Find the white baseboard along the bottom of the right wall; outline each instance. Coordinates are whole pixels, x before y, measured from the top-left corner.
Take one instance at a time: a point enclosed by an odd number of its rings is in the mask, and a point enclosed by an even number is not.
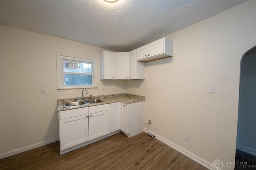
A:
[[[212,168],[212,164],[211,164],[210,162],[207,162],[206,160],[200,158],[199,156],[193,154],[192,152],[189,152],[188,150],[186,150],[186,149],[184,149],[184,148],[181,148],[180,146],[178,146],[178,145],[176,145],[176,144],[174,144],[174,143],[172,143],[172,142],[166,140],[165,138],[163,138],[163,137],[159,136],[158,134],[156,134],[156,133],[154,133],[154,132],[148,130],[147,128],[145,128],[144,131],[145,131],[146,133],[150,132],[151,134],[153,134],[154,136],[156,136],[156,138],[157,138],[158,140],[160,140],[161,142],[164,142],[165,144],[167,144],[168,146],[174,148],[174,149],[177,150],[178,152],[180,152],[180,153],[182,153],[182,154],[188,156],[188,158],[191,158],[192,160],[198,162],[199,164],[205,166],[206,168],[208,168],[208,169],[210,169],[210,170],[214,170],[214,169]],[[219,170],[220,170],[220,168],[219,168]]]

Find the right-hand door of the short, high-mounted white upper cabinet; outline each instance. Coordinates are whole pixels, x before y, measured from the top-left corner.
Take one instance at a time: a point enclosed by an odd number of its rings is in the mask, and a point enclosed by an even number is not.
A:
[[[148,57],[164,53],[164,38],[148,44]]]

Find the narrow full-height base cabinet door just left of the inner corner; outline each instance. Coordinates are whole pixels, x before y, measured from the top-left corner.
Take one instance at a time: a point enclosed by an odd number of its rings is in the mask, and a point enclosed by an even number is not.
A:
[[[110,132],[120,130],[120,102],[110,104]]]

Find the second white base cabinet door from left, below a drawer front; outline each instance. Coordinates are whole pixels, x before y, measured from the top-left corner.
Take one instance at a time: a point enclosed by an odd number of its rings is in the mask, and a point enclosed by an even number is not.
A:
[[[110,110],[89,114],[89,139],[110,133]]]

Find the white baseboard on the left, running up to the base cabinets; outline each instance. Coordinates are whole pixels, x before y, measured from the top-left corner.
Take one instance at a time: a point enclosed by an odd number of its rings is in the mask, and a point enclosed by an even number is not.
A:
[[[40,146],[44,146],[46,144],[50,144],[50,143],[56,142],[58,140],[59,140],[59,138],[54,138],[54,139],[46,140],[44,142],[39,142],[39,143],[36,143],[36,144],[32,144],[32,145],[29,145],[29,146],[18,148],[18,149],[12,150],[10,152],[5,152],[5,153],[0,154],[0,159],[6,158],[8,156],[15,155],[15,154],[19,154],[21,152],[25,152],[25,151],[28,151],[28,150],[31,150],[31,149],[34,149],[34,148],[38,148]]]

